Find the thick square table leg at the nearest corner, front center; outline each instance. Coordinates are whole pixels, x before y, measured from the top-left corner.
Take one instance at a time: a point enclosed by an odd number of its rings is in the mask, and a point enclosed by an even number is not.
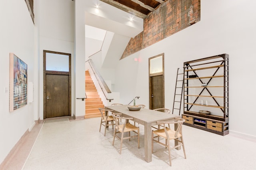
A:
[[[152,161],[151,152],[151,124],[144,125],[144,148],[145,148],[145,160],[146,162]]]

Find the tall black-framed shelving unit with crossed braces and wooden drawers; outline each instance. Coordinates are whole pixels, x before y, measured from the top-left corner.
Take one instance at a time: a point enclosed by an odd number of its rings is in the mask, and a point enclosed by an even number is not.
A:
[[[228,54],[184,62],[184,125],[224,136],[228,116]]]

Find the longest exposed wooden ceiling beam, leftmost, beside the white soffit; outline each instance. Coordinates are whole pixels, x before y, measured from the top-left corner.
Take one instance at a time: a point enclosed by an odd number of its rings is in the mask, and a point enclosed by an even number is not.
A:
[[[144,18],[147,17],[147,15],[142,14],[141,12],[138,12],[138,11],[136,11],[136,10],[134,10],[132,8],[129,8],[129,7],[125,6],[125,5],[123,5],[123,4],[120,4],[120,3],[118,3],[118,2],[116,2],[114,0],[100,0],[100,1],[105,2],[107,4],[110,4],[110,5],[116,7],[118,9],[120,9],[120,10],[128,12],[129,14],[135,15],[135,16],[137,16],[139,18],[143,18],[144,19]]]

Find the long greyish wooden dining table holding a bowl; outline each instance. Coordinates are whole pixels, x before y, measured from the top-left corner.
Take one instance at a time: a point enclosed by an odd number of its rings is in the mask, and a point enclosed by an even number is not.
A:
[[[140,111],[129,111],[128,106],[129,105],[116,105],[116,106],[105,106],[105,107],[113,110],[114,113],[122,113],[123,117],[133,118],[132,121],[137,122],[140,125],[144,125],[145,160],[146,162],[151,162],[152,161],[151,126],[157,125],[156,122],[158,121],[172,121],[174,118],[180,117],[180,116],[169,114],[169,113],[163,113],[160,111],[145,109],[145,108],[141,108]]]

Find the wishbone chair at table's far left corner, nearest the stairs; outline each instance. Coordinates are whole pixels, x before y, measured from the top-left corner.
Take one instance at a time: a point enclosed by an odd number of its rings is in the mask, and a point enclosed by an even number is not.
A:
[[[109,125],[112,125],[112,128],[114,129],[114,118],[112,116],[109,116],[109,112],[112,112],[113,110],[110,109],[106,109],[106,108],[99,108],[100,113],[101,113],[101,120],[100,120],[100,129],[101,129],[101,125],[103,125],[105,127],[105,131],[104,131],[104,136],[106,136],[106,128]],[[105,113],[107,113],[107,115],[105,116]],[[110,123],[110,124],[109,124]]]

